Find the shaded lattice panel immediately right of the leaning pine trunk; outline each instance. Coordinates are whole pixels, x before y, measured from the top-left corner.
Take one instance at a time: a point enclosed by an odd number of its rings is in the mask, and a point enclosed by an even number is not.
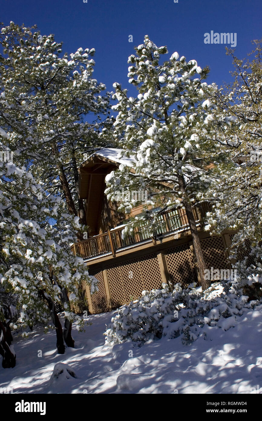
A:
[[[207,268],[230,269],[222,237],[204,238],[204,240],[201,240],[201,246]]]

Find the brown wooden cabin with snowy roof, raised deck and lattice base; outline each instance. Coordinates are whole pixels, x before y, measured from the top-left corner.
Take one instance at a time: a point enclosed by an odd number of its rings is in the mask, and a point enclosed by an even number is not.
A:
[[[74,243],[73,253],[86,262],[89,273],[98,281],[99,291],[90,295],[81,285],[90,313],[111,311],[141,296],[143,290],[161,288],[161,284],[180,282],[184,287],[199,282],[191,232],[183,208],[158,212],[161,229],[153,237],[146,225],[124,237],[124,222],[143,212],[143,205],[130,215],[118,212],[116,202],[107,200],[106,176],[121,163],[132,168],[132,158],[119,158],[120,149],[103,148],[79,167],[79,198],[84,199],[87,238]],[[201,238],[207,267],[230,269],[228,248],[233,232],[210,236],[204,230],[204,218],[211,204],[195,206],[194,217]],[[153,210],[152,210],[153,211]]]

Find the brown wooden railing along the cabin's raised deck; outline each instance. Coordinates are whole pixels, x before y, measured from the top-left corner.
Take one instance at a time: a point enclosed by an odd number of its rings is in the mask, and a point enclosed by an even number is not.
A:
[[[198,207],[193,208],[193,214],[196,221],[200,221],[210,210],[210,203],[203,202]],[[156,236],[161,237],[164,234],[176,232],[181,229],[188,229],[188,218],[183,208],[169,210],[159,214],[158,216],[161,227],[157,229],[154,237],[148,229],[148,224],[141,224],[134,229],[132,235],[122,237],[123,226],[114,229],[108,229],[103,234],[95,235],[94,237],[87,238],[87,240],[79,241],[72,245],[71,250],[77,256],[82,258],[92,258],[106,253],[116,255],[116,250],[135,245],[139,242],[152,239],[155,242]]]

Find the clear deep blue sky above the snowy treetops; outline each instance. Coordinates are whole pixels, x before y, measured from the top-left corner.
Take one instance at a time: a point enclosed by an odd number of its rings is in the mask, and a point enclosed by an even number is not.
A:
[[[187,60],[211,69],[209,82],[231,81],[231,58],[225,45],[204,44],[205,32],[236,32],[236,54],[251,51],[251,40],[262,37],[261,0],[0,0],[0,21],[31,26],[42,35],[55,34],[63,51],[95,48],[94,77],[112,90],[114,82],[130,88],[127,58],[149,35]],[[133,43],[128,36],[133,35]]]

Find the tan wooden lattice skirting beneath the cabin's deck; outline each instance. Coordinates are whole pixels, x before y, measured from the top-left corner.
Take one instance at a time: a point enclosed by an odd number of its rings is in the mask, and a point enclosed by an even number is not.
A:
[[[201,244],[208,268],[211,266],[214,269],[230,267],[222,237],[204,238]],[[180,282],[183,287],[186,287],[191,282],[197,282],[195,258],[189,243],[166,248],[161,250],[161,253],[164,255],[173,285]],[[89,296],[89,301],[91,300],[90,312],[92,313],[109,311],[111,308],[127,304],[139,298],[143,290],[161,288],[163,282],[157,253],[108,264],[103,267],[103,271],[90,268],[89,273],[99,281],[99,291],[92,296],[90,296],[89,287],[82,285],[82,288],[86,290],[86,298]]]

